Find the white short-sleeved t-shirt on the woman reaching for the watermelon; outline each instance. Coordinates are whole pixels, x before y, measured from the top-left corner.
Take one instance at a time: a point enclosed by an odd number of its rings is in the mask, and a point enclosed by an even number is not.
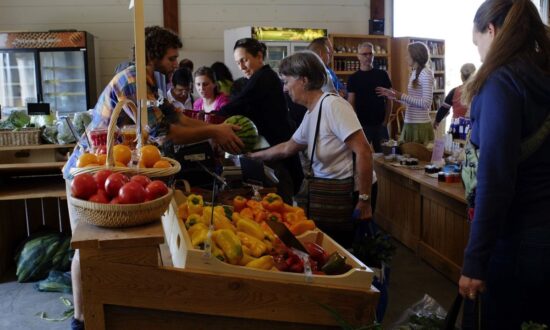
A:
[[[307,111],[300,127],[294,132],[294,142],[307,145],[311,155],[315,128],[323,94],[312,111]],[[351,134],[362,129],[353,107],[343,98],[327,96],[323,101],[321,125],[313,157],[313,175],[318,178],[344,179],[353,175],[352,151],[344,142]],[[311,156],[308,156],[308,159]]]

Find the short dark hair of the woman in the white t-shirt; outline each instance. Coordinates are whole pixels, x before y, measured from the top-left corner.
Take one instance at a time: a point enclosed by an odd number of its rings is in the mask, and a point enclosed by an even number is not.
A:
[[[279,74],[307,78],[306,90],[321,89],[327,80],[327,72],[322,60],[311,51],[298,52],[285,57],[279,65]]]

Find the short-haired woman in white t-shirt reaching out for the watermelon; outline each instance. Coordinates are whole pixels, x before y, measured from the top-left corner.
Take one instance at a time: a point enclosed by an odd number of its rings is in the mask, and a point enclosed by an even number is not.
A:
[[[370,219],[372,151],[353,107],[338,95],[323,93],[321,87],[327,79],[326,70],[312,52],[286,57],[279,66],[279,73],[292,101],[305,106],[308,111],[291,139],[255,152],[251,157],[276,160],[307,149],[309,157],[314,155],[311,157],[313,177],[339,180],[354,177],[355,189],[359,191],[354,215],[361,220]],[[353,190],[353,185],[350,189]],[[352,202],[351,198],[349,202]],[[330,229],[321,229],[344,246],[349,246],[353,239],[351,217],[352,214],[349,214],[349,223],[342,223],[338,227],[326,223],[325,228]]]

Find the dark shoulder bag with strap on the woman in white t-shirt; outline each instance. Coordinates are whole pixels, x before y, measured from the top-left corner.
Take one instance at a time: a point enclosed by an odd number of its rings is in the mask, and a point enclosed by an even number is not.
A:
[[[323,230],[353,229],[352,214],[355,207],[353,205],[353,175],[345,179],[324,179],[316,178],[313,175],[313,156],[317,146],[323,101],[327,96],[321,100],[319,105],[309,173],[304,179],[301,194],[305,197],[303,202],[305,202],[304,209],[308,218],[313,219],[318,227]]]

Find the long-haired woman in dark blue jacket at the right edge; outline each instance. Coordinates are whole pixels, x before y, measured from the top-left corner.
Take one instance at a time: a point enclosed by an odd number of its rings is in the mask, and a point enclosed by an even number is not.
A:
[[[483,65],[463,97],[477,186],[459,292],[481,295],[487,329],[550,325],[549,29],[530,0],[487,0],[473,41]]]

